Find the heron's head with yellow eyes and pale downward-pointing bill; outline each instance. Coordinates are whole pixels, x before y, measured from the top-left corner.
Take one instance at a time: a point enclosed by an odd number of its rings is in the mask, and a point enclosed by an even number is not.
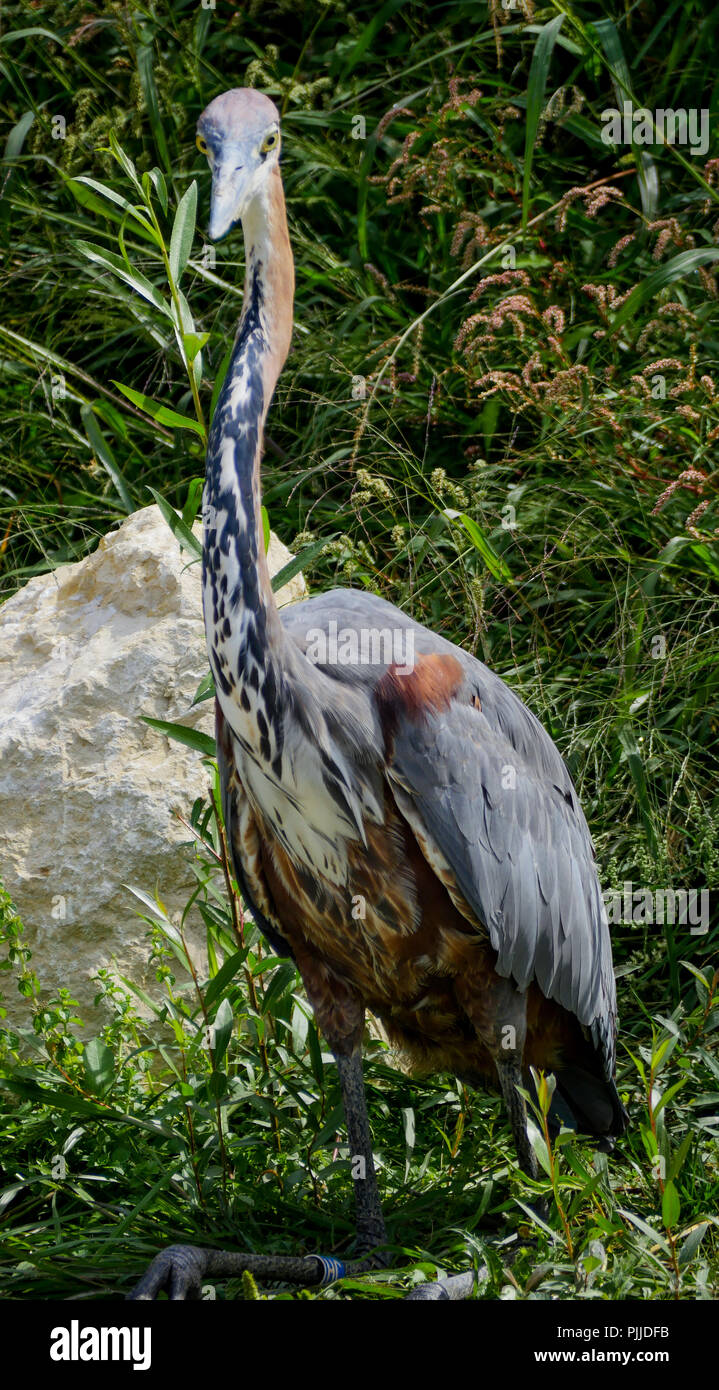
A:
[[[280,158],[280,113],[253,88],[223,92],[197,121],[197,149],[213,174],[210,240],[221,240],[261,195]]]

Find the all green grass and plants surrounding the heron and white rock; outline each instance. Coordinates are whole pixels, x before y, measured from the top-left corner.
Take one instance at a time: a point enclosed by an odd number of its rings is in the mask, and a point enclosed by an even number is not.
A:
[[[719,149],[711,121],[701,153],[602,140],[624,100],[716,113],[712,7],[33,0],[3,24],[3,596],[149,489],[195,517],[242,285],[241,238],[213,264],[199,229],[195,121],[261,86],[298,268],[271,525],[313,589],[380,592],[519,691],[608,890],[719,890]],[[3,1034],[6,1297],[111,1295],[175,1238],[350,1238],[334,1068],[293,969],[228,897],[209,802],[192,826],[210,973],[149,899],[160,1048],[108,977],[88,1044],[0,903],[35,1040],[28,1056]],[[638,916],[613,926],[633,1125],[609,1163],[538,1137],[538,1223],[499,1102],[417,1083],[370,1040],[402,1272],[273,1297],[396,1297],[467,1259],[488,1298],[716,1297],[718,929]]]

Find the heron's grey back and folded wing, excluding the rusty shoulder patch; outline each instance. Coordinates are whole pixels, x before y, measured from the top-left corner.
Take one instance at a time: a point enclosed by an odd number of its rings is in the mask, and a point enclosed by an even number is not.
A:
[[[334,620],[350,631],[412,632],[417,655],[451,653],[462,664],[464,684],[446,712],[401,720],[389,780],[410,798],[485,924],[498,972],[520,988],[535,980],[547,998],[574,1013],[611,1077],[616,991],[606,913],[587,821],[547,731],[494,671],[384,599],[335,589],[281,616],[300,649],[309,630]],[[375,741],[381,734],[373,692],[387,666],[323,667],[348,694],[366,691],[369,737]]]

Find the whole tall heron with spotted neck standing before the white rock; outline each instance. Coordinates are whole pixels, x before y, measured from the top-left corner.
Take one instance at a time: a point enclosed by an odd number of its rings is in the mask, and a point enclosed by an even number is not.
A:
[[[241,224],[245,240],[203,493],[223,815],[242,895],[270,947],[295,960],[337,1062],[356,1258],[172,1245],[134,1290],[142,1300],[163,1290],[197,1298],[203,1280],[245,1270],[318,1286],[388,1264],[363,1084],[366,1011],[419,1074],[453,1072],[501,1091],[531,1177],[531,1069],[554,1073],[556,1115],[599,1147],[627,1123],[592,841],[542,724],[473,655],[375,595],[332,589],[277,609],[260,459],[295,289],[278,110],[256,89],[224,92],[196,142],[211,171],[209,236]],[[338,630],[345,648],[355,638],[350,659],[330,641]],[[371,648],[377,632],[392,634],[389,651]],[[471,1276],[420,1289],[467,1297]]]

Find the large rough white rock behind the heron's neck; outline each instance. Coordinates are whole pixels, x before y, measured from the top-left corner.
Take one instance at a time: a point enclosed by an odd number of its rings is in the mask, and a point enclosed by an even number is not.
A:
[[[289,559],[273,535],[270,571]],[[277,598],[305,594],[298,575]],[[213,702],[189,709],[206,671],[200,566],[156,506],[0,607],[0,876],[43,994],[65,986],[88,1022],[102,1016],[92,976],[113,958],[154,992],[124,884],[159,892],[175,917],[196,883],[174,812],[188,816],[207,776],[199,753],[140,716],[213,733]],[[11,977],[0,984],[10,1019],[26,1024]]]

